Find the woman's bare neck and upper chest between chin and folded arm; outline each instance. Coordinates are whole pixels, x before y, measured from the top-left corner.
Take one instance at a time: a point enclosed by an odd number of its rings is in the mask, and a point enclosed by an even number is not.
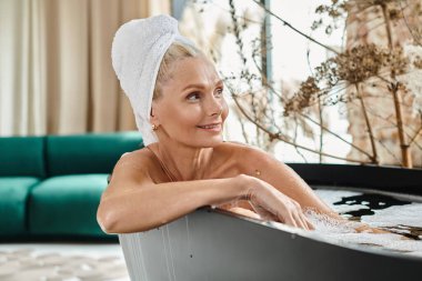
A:
[[[209,171],[212,148],[192,148],[179,143],[151,144],[164,168],[178,181],[204,179]]]

